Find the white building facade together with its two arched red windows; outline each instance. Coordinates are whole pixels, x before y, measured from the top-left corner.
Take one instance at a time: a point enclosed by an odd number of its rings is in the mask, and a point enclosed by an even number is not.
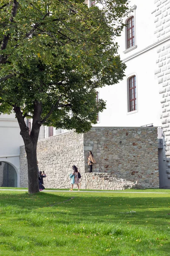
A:
[[[124,19],[128,26],[116,39],[120,57],[127,65],[125,77],[119,84],[99,89],[99,96],[107,101],[107,107],[100,113],[97,126],[162,125],[161,81],[165,80],[166,84],[168,81],[165,73],[161,73],[162,79],[157,76],[159,66],[163,65],[158,52],[169,45],[170,27],[168,31],[165,28],[169,20],[167,13],[170,12],[168,2],[130,1],[131,8]],[[166,53],[164,69],[167,73],[168,50]]]

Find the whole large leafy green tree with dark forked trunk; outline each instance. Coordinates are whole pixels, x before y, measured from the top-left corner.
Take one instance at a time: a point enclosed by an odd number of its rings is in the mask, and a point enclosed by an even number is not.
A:
[[[123,79],[115,42],[127,0],[0,1],[0,113],[15,113],[28,162],[28,192],[39,192],[40,126],[90,130],[105,102],[96,90]],[[102,8],[101,8],[102,7]],[[29,132],[25,119],[32,118]]]

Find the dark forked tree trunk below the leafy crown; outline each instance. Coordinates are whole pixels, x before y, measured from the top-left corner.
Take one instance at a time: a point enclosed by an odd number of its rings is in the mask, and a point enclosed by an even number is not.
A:
[[[41,126],[40,116],[42,112],[42,105],[39,102],[34,102],[34,115],[30,135],[29,128],[26,126],[23,113],[20,108],[14,106],[14,112],[16,113],[16,117],[20,125],[20,134],[23,137],[26,149],[28,164],[28,193],[37,193],[40,192],[37,169],[37,142]]]

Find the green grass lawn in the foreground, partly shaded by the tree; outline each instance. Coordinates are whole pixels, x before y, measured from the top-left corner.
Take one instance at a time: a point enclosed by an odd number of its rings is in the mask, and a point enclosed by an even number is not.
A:
[[[170,256],[170,190],[134,191],[0,190],[0,256]]]

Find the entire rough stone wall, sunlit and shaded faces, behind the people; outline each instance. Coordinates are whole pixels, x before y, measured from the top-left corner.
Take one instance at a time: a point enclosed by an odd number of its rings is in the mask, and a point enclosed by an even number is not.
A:
[[[92,174],[88,172],[89,151],[96,160]],[[46,188],[70,188],[73,165],[82,175],[82,189],[159,188],[157,128],[95,127],[85,134],[71,131],[40,140],[37,159],[39,170],[47,175]],[[20,186],[28,186],[24,146],[20,147]]]

